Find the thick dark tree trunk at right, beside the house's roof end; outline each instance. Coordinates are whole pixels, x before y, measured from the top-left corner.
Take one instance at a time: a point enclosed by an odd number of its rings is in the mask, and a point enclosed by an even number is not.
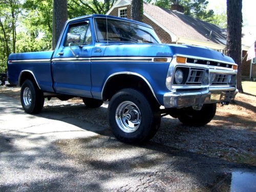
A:
[[[242,37],[242,0],[227,0],[227,55],[238,65],[237,88],[242,88],[241,63],[241,37]]]

